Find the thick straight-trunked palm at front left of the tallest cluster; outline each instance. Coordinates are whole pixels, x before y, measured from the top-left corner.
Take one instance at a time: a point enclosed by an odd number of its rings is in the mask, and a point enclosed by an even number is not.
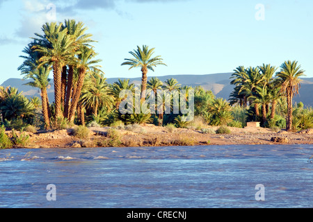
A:
[[[51,64],[54,73],[54,101],[56,105],[56,117],[61,117],[61,99],[62,99],[62,71],[63,67],[74,58],[74,52],[77,46],[73,44],[73,39],[67,35],[67,28],[63,28],[63,24],[44,24],[42,31],[45,35],[35,33],[40,39],[39,44],[33,46],[35,51],[42,53],[39,60],[40,66]]]

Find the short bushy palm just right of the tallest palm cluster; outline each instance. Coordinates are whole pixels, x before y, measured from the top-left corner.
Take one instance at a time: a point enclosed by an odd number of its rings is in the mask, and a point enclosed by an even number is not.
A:
[[[86,87],[81,95],[81,102],[86,104],[86,107],[93,109],[93,115],[97,117],[99,107],[104,107],[108,112],[112,109],[114,98],[111,94],[109,85],[106,83],[106,78],[102,74],[94,73],[90,80],[90,85]]]

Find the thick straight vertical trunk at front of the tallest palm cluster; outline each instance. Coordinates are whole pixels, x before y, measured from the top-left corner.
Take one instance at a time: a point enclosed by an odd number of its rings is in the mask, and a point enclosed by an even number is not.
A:
[[[56,104],[56,118],[61,117],[61,65],[60,62],[54,62],[54,103]]]

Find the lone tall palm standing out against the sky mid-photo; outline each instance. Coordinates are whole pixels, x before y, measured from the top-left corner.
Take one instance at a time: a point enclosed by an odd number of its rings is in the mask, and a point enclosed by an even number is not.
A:
[[[147,87],[147,71],[148,69],[154,71],[154,67],[157,67],[157,65],[166,65],[162,62],[161,56],[156,56],[152,58],[152,55],[154,53],[154,48],[149,49],[148,46],[143,45],[143,49],[141,49],[139,46],[137,46],[137,50],[129,51],[131,56],[134,56],[134,58],[125,58],[127,62],[123,62],[122,65],[130,65],[131,68],[141,67],[142,72],[142,78],[141,78],[141,95],[142,98],[143,92],[145,92],[145,89]]]

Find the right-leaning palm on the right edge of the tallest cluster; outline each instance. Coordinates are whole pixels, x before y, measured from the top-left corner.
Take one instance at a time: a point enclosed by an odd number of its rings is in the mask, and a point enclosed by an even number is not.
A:
[[[87,71],[99,71],[102,72],[98,67],[99,65],[95,65],[101,60],[93,60],[97,56],[97,53],[93,51],[93,49],[88,48],[87,46],[81,46],[80,53],[78,56],[79,63],[77,64],[77,69],[79,69],[79,76],[77,80],[76,90],[73,92],[72,102],[70,106],[70,112],[68,116],[69,121],[74,121],[74,115],[77,108],[77,103],[79,102],[79,98],[81,96],[81,89],[83,87],[83,81],[85,80]]]

